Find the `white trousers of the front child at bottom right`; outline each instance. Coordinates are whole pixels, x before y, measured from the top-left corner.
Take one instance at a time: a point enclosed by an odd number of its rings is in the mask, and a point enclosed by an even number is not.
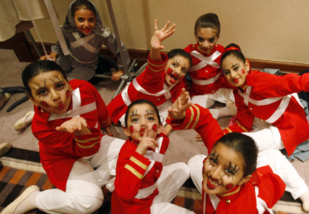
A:
[[[203,160],[205,155],[198,154],[190,158],[187,163],[190,169],[190,176],[196,186],[196,189],[202,193],[203,181]],[[273,172],[280,176],[286,184],[286,191],[290,192],[294,199],[299,198],[308,190],[305,181],[297,174],[293,165],[286,159],[279,150],[265,150],[259,152],[257,167],[269,165]]]

